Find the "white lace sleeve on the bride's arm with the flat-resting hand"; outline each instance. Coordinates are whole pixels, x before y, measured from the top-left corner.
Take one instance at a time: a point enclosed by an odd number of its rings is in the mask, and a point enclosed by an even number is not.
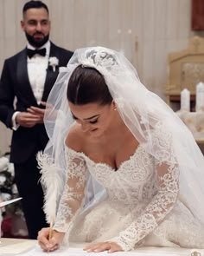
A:
[[[158,130],[157,139],[159,141],[157,141],[156,145],[159,145],[160,149],[163,147],[163,155],[157,155],[158,157],[155,161],[157,193],[137,220],[132,222],[123,232],[119,233],[118,237],[111,240],[118,243],[124,251],[133,249],[137,243],[140,243],[144,237],[156,229],[156,226],[171,211],[177,200],[179,192],[179,167],[174,159],[175,154],[172,152],[172,140],[169,136],[162,140],[162,134]],[[158,150],[158,152],[161,153],[161,150]]]

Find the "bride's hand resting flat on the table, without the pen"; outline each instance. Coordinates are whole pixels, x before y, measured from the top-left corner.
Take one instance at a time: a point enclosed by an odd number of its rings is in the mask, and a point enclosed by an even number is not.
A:
[[[88,253],[91,253],[91,252],[99,253],[104,251],[108,251],[108,253],[114,253],[114,252],[123,251],[123,249],[120,246],[118,246],[117,243],[114,243],[114,242],[101,242],[101,243],[93,244],[90,246],[86,246],[84,250]]]

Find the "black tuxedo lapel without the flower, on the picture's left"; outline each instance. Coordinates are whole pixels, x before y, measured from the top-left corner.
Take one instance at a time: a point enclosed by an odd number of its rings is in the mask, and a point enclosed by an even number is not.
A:
[[[29,83],[26,49],[22,50],[18,58],[16,76],[19,87],[19,93],[23,91],[23,95],[27,95],[29,105],[36,105],[35,96]]]

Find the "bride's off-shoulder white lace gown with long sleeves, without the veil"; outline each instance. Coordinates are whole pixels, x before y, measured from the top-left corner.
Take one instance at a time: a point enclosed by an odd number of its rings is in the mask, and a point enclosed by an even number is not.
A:
[[[67,148],[69,169],[54,229],[73,242],[115,241],[137,246],[204,248],[204,224],[179,195],[179,170],[164,167],[142,145],[118,170]],[[105,187],[105,199],[80,213],[89,174]]]

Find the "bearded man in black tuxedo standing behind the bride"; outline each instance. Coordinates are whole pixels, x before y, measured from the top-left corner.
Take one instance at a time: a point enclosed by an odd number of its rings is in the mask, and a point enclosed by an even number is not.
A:
[[[4,62],[0,120],[13,129],[10,161],[15,167],[29,238],[36,239],[41,227],[46,226],[41,174],[36,161],[36,154],[48,142],[43,124],[44,108],[59,67],[67,66],[73,52],[49,41],[50,21],[45,3],[25,3],[21,26],[28,43],[25,49]]]

